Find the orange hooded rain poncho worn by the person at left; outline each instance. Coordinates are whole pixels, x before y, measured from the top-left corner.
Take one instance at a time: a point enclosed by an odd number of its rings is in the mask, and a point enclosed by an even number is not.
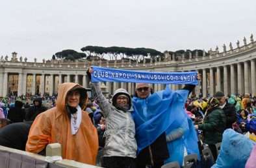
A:
[[[71,121],[66,112],[66,95],[73,87],[80,87],[82,121],[76,134],[71,134]],[[57,107],[42,112],[34,120],[26,151],[38,153],[49,143],[60,143],[62,158],[95,165],[98,150],[97,131],[88,113],[83,111],[87,102],[86,89],[77,83],[62,83],[58,89]],[[82,101],[81,101],[82,100]],[[83,103],[84,102],[84,103]]]

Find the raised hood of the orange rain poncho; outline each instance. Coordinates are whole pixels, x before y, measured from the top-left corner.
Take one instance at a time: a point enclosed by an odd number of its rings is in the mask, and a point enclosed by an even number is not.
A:
[[[80,94],[79,106],[82,110],[86,107],[88,100],[87,90],[77,83],[62,83],[58,87],[58,98],[56,101],[56,107],[60,110],[66,111],[68,105],[68,94],[77,90]]]

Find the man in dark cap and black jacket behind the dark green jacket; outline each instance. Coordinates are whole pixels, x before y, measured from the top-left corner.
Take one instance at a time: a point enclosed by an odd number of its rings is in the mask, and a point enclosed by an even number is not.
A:
[[[216,92],[214,98],[220,101],[220,108],[224,111],[226,117],[226,129],[232,129],[233,123],[237,121],[235,106],[225,101],[225,94],[222,91]]]

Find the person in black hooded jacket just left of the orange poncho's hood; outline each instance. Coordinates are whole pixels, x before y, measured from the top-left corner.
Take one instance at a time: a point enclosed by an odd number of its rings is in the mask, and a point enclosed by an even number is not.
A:
[[[42,100],[40,98],[36,98],[33,101],[33,103],[34,105],[29,109],[27,109],[26,116],[25,116],[26,121],[34,121],[34,119],[36,118],[36,116],[38,116],[38,114],[47,110],[47,108],[42,105]]]

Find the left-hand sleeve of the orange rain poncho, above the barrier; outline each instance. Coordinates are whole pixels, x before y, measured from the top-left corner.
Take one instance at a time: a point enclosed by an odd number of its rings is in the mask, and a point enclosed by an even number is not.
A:
[[[50,119],[39,114],[34,120],[26,144],[26,151],[39,153],[46,145],[51,143],[51,122]]]

